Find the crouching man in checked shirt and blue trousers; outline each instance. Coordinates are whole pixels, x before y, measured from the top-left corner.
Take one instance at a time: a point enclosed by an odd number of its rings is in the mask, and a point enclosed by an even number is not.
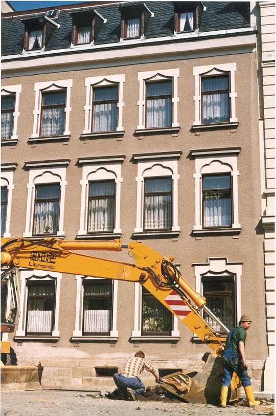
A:
[[[145,360],[145,354],[142,351],[138,351],[134,358],[130,358],[126,362],[121,374],[114,374],[114,383],[117,385],[123,399],[134,401],[135,396],[145,391],[146,387],[139,378],[144,368],[153,374],[156,381],[160,380],[158,371],[149,361]]]

